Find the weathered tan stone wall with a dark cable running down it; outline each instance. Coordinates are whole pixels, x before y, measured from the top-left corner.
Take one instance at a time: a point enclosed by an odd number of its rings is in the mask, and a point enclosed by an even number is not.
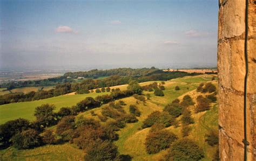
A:
[[[219,148],[221,160],[244,160],[245,0],[219,0]],[[256,160],[256,0],[248,5],[247,150]]]

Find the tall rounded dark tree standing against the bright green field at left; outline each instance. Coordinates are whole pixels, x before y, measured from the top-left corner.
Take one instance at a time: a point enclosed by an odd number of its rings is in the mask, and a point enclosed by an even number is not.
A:
[[[36,116],[38,122],[41,122],[44,127],[47,127],[56,122],[55,113],[53,113],[54,109],[55,106],[53,104],[42,104],[36,107],[34,116]]]

